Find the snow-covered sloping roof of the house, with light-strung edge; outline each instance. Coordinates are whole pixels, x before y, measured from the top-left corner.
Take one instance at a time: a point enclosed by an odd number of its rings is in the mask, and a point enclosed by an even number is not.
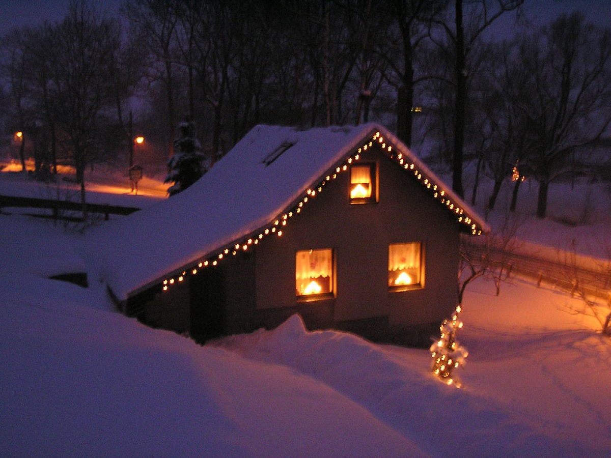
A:
[[[183,269],[190,272],[198,264],[218,261],[236,244],[247,249],[263,236],[276,236],[283,220],[295,217],[312,194],[324,191],[333,173],[347,169],[343,165],[372,142],[455,212],[467,231],[488,230],[450,187],[382,126],[301,131],[258,125],[197,183],[93,235],[103,281],[125,300],[155,283],[181,280]]]

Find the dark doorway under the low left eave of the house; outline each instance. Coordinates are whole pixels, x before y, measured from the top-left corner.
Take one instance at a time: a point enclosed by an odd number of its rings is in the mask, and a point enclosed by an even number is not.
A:
[[[191,337],[205,343],[225,335],[225,294],[220,267],[206,267],[191,277]]]

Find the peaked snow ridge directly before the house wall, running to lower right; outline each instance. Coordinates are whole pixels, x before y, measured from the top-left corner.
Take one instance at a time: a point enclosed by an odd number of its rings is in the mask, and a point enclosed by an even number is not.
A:
[[[431,456],[582,451],[582,445],[548,434],[529,416],[494,399],[439,383],[428,370],[426,351],[378,346],[348,333],[307,332],[299,316],[272,332],[233,336],[218,345],[326,383]]]

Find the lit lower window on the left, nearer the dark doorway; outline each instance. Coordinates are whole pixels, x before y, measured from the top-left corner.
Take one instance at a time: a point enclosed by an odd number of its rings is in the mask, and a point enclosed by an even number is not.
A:
[[[300,297],[333,293],[333,250],[297,252],[295,289]]]

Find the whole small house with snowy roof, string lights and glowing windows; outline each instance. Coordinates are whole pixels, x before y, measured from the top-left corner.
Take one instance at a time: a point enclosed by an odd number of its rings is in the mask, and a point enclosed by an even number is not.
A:
[[[485,222],[382,126],[255,126],[197,183],[98,234],[121,310],[196,340],[276,327],[430,343]]]

